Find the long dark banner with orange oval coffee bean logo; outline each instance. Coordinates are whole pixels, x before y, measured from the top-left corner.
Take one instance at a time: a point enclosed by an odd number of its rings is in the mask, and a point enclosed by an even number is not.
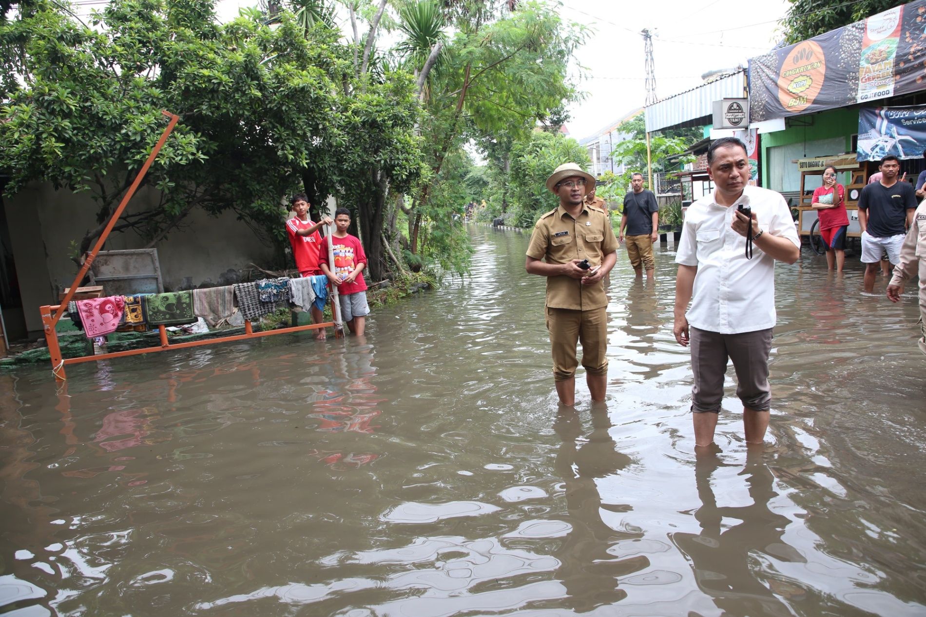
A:
[[[846,107],[926,89],[920,43],[926,0],[749,60],[753,122]]]

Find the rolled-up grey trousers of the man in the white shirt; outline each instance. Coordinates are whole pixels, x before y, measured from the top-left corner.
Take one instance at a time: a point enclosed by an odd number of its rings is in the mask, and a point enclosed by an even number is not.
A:
[[[692,411],[720,412],[727,360],[736,370],[736,396],[757,411],[771,407],[769,354],[771,328],[741,334],[720,334],[690,328],[692,349]]]

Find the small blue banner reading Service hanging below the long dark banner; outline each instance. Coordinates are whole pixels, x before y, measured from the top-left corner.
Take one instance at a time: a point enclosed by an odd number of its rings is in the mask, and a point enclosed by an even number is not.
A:
[[[920,158],[926,149],[926,105],[858,110],[858,160]]]

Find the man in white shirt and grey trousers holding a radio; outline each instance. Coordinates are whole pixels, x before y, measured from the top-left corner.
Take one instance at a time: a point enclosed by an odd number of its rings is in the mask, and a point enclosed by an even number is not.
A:
[[[688,208],[675,257],[673,332],[680,345],[691,344],[694,445],[714,442],[728,359],[743,402],[746,443],[761,445],[771,403],[774,263],[794,263],[800,238],[782,195],[748,185],[749,159],[739,139],[724,137],[710,145],[707,173],[716,189]],[[740,206],[752,209],[751,220]],[[745,254],[747,230],[752,258]]]

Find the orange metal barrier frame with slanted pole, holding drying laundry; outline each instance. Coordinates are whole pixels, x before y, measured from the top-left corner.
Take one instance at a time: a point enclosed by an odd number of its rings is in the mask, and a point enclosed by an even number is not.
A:
[[[103,230],[103,233],[100,234],[100,237],[97,239],[96,244],[94,245],[93,250],[87,254],[87,257],[83,261],[83,266],[81,271],[77,273],[77,276],[74,277],[74,283],[70,285],[68,292],[62,298],[59,305],[45,305],[39,309],[42,312],[42,323],[44,327],[45,342],[48,344],[48,353],[51,356],[52,360],[52,372],[55,373],[55,378],[57,381],[64,381],[66,379],[64,367],[68,364],[78,364],[80,362],[92,362],[94,360],[102,359],[111,359],[111,358],[124,358],[126,356],[138,356],[140,354],[150,354],[156,351],[167,351],[168,349],[183,349],[186,347],[196,347],[202,345],[212,345],[213,343],[226,343],[230,341],[244,341],[247,339],[258,338],[260,336],[269,336],[271,334],[287,334],[294,332],[301,332],[304,330],[316,330],[319,328],[334,327],[334,335],[337,338],[344,336],[344,331],[341,330],[333,321],[325,321],[323,323],[312,323],[310,325],[303,326],[291,326],[289,328],[280,328],[277,330],[269,330],[267,332],[254,332],[251,321],[244,321],[244,334],[233,334],[231,336],[217,336],[215,338],[204,339],[201,341],[188,341],[186,343],[174,343],[170,344],[168,342],[168,332],[163,325],[158,326],[160,332],[160,346],[152,347],[142,347],[139,349],[130,349],[128,351],[113,351],[106,354],[98,354],[94,356],[81,356],[80,358],[62,358],[61,357],[61,346],[58,345],[57,332],[55,326],[58,320],[61,319],[61,316],[68,309],[68,303],[71,297],[74,296],[74,293],[77,291],[78,286],[80,286],[83,277],[86,275],[87,271],[90,270],[91,264],[94,262],[97,253],[100,252],[100,249],[106,243],[106,239],[109,237],[109,233],[112,232],[113,226],[115,226],[116,221],[119,220],[119,217],[122,216],[122,211],[125,209],[126,205],[129,203],[132,195],[135,195],[135,191],[138,190],[139,185],[144,179],[144,175],[148,172],[148,169],[151,167],[151,163],[154,162],[157,153],[160,152],[161,148],[164,146],[165,142],[168,140],[170,132],[174,130],[174,127],[177,125],[177,121],[180,118],[174,114],[169,113],[168,111],[161,112],[167,116],[170,121],[168,122],[167,128],[161,134],[159,140],[154,149],[151,151],[151,154],[148,156],[147,160],[144,161],[142,169],[139,170],[138,176],[135,177],[135,181],[131,183],[128,192],[125,196],[122,197],[122,201],[119,203],[119,208],[116,208],[116,211],[113,212],[112,217],[109,219],[109,222],[106,224],[106,229]],[[54,311],[54,313],[53,313]],[[332,314],[334,313],[334,298],[332,296]]]

